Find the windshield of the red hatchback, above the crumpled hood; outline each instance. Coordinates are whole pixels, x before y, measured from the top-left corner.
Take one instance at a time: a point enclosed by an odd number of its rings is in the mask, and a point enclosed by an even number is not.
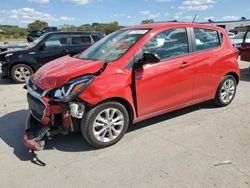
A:
[[[147,29],[128,29],[114,32],[81,53],[77,58],[115,61],[122,57],[147,32]]]

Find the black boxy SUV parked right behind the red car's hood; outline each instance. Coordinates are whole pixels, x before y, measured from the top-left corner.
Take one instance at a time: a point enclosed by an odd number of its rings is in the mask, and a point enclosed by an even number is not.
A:
[[[45,63],[75,55],[103,37],[101,32],[52,32],[44,34],[25,49],[0,53],[2,77],[23,83]]]

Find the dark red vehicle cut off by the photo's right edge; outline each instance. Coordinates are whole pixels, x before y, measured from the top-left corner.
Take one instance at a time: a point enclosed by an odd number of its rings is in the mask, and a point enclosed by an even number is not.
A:
[[[250,61],[250,26],[246,28],[240,48],[241,60]]]

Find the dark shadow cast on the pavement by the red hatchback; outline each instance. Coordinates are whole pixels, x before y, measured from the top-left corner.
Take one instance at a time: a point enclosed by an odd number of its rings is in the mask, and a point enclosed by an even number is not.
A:
[[[201,103],[192,107],[188,107],[175,112],[167,113],[158,117],[130,126],[128,132],[145,128],[152,124],[166,121],[177,116],[188,114],[199,109],[214,108],[211,102]],[[32,155],[28,149],[23,145],[23,131],[24,123],[28,111],[19,110],[11,112],[0,117],[0,139],[2,139],[10,148],[13,148],[13,153],[21,161],[30,161]],[[45,150],[56,149],[64,152],[86,152],[94,150],[83,138],[81,133],[71,133],[66,136],[55,136],[53,139],[48,140],[45,145]]]

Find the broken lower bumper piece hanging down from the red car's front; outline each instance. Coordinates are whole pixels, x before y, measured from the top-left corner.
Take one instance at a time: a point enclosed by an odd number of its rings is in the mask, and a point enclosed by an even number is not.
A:
[[[26,129],[23,138],[24,145],[35,151],[43,150],[45,145],[44,137],[49,134],[50,128],[41,125],[30,114],[28,114],[26,119],[25,127]]]

